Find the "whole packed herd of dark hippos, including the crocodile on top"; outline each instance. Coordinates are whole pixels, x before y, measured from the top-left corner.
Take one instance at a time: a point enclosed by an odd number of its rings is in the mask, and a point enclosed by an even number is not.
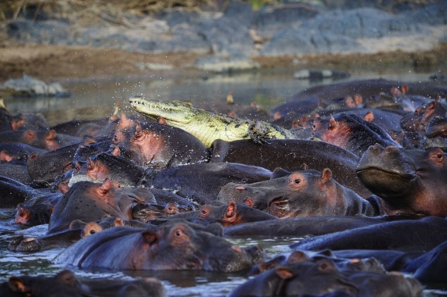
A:
[[[49,127],[0,103],[0,208],[64,267],[246,272],[229,296],[420,297],[447,284],[447,87],[306,89],[266,111],[133,96]],[[232,236],[305,239],[267,258]],[[228,240],[229,239],[229,240]],[[444,288],[447,289],[447,288]],[[165,296],[157,279],[11,275],[0,296]]]

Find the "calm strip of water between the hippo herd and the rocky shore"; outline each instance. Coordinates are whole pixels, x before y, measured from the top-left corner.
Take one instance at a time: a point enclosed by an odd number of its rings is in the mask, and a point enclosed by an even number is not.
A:
[[[406,82],[427,81],[433,73],[445,73],[444,70],[416,72],[413,69],[393,69],[392,72],[383,70],[376,72],[350,70],[350,72],[353,74],[351,77],[338,81],[380,77]],[[11,98],[5,95],[4,99],[11,112],[26,110],[41,112],[52,125],[75,118],[107,117],[115,104],[119,104],[120,109],[126,112],[129,109],[128,98],[135,94],[194,103],[224,101],[226,94],[232,91],[236,102],[249,104],[256,101],[265,108],[270,108],[284,103],[305,88],[335,82],[331,79],[315,81],[294,79],[293,74],[293,70],[275,70],[234,75],[210,74],[203,77],[152,75],[139,79],[78,81],[64,85],[73,93],[73,96],[68,98]]]

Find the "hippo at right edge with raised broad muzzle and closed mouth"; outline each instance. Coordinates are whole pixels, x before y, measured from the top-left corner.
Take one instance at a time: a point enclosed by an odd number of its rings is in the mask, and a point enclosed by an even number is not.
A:
[[[424,151],[375,144],[357,166],[360,180],[383,200],[387,214],[447,215],[447,161],[440,148]]]

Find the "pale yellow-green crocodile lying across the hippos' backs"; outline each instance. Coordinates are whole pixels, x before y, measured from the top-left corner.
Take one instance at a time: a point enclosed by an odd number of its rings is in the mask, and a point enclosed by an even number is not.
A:
[[[142,115],[189,132],[207,148],[217,139],[228,142],[252,139],[258,144],[269,139],[296,139],[292,132],[277,125],[215,114],[178,100],[163,101],[138,95],[130,97],[129,102]]]

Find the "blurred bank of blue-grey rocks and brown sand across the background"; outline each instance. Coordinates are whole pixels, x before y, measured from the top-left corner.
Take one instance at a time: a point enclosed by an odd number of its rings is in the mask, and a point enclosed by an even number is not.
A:
[[[23,73],[57,79],[118,75],[120,70],[137,75],[445,63],[446,1],[394,10],[377,5],[382,1],[345,2],[336,7],[285,1],[255,11],[248,2],[229,1],[226,8],[127,14],[119,21],[103,16],[87,24],[43,13],[35,19],[24,15],[1,27],[0,80]]]

